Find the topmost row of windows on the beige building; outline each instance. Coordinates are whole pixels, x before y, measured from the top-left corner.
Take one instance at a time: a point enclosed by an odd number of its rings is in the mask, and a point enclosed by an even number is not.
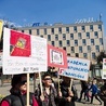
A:
[[[77,26],[74,26],[72,28],[74,28],[72,30],[74,30],[75,32],[78,31]],[[82,30],[82,31],[85,31],[85,26],[81,26],[81,30]],[[90,30],[91,30],[91,31],[94,30],[93,25],[90,25]],[[102,31],[102,25],[98,25],[98,30]],[[22,32],[24,32],[24,30],[22,30]],[[58,34],[62,34],[62,32],[63,32],[63,28],[62,28],[62,27],[58,27]],[[69,28],[69,27],[66,27],[66,32],[68,32],[68,34],[70,32],[70,28]],[[44,35],[48,35],[48,29],[47,29],[47,28],[43,29],[43,34],[44,34]],[[55,28],[51,28],[51,34],[52,34],[52,35],[55,34]],[[31,35],[31,29],[29,29],[29,35]],[[40,29],[37,29],[37,35],[40,35]]]

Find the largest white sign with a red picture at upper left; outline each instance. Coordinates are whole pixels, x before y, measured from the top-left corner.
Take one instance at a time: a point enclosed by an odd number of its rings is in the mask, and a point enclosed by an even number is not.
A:
[[[4,28],[3,75],[47,71],[47,39]]]

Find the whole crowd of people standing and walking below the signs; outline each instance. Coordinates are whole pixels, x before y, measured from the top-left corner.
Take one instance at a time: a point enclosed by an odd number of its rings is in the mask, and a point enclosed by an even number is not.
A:
[[[27,103],[27,76],[26,74],[14,75],[11,82],[10,95],[5,96],[0,106],[26,106]],[[96,79],[92,80],[92,84],[81,81],[80,97],[76,94],[74,85],[70,88],[70,78],[62,77],[59,87],[57,87],[51,75],[45,72],[42,76],[42,90],[38,88],[34,93],[29,92],[30,106],[76,106],[75,102],[81,102],[84,94],[85,102],[93,104],[95,97],[100,105],[102,101],[106,106],[106,80],[101,89],[97,88]],[[92,92],[91,95],[89,92]]]

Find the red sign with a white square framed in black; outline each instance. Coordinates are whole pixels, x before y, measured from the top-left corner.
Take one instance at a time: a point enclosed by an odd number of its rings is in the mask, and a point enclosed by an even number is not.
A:
[[[66,51],[48,44],[48,66],[67,68]]]

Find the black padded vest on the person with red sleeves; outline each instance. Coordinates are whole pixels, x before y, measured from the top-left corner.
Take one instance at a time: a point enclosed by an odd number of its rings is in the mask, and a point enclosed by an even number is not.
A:
[[[36,105],[34,105],[35,103],[34,103],[34,98],[32,98],[32,93],[29,93],[29,105],[30,106],[38,106],[38,104],[36,104]],[[24,93],[24,94],[21,94],[21,92],[19,91],[15,91],[15,90],[13,90],[13,89],[11,89],[11,94],[10,95],[8,95],[8,96],[5,96],[3,100],[2,100],[2,102],[1,102],[1,104],[3,103],[3,102],[8,102],[9,103],[9,105],[8,106],[26,106],[26,92]],[[35,97],[35,96],[34,96]],[[35,100],[36,101],[36,100]],[[37,101],[36,101],[37,102]],[[2,105],[0,105],[0,106],[2,106]]]

